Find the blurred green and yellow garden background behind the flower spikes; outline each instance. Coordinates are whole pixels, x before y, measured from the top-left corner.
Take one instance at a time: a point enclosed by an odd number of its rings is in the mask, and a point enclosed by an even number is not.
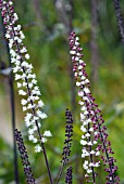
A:
[[[124,1],[120,0],[124,17]],[[52,137],[46,144],[52,176],[55,179],[62,158],[65,108],[73,111],[74,136],[70,166],[74,184],[85,184],[82,146],[79,140],[79,106],[77,89],[71,71],[69,32],[74,29],[84,49],[86,70],[91,81],[91,92],[102,109],[109,140],[115,152],[121,183],[124,183],[124,44],[116,23],[113,0],[14,0],[30,54],[30,63],[37,75],[48,118],[42,129],[51,130]],[[8,52],[0,25],[0,67],[9,66]],[[38,183],[49,184],[42,154],[34,153],[24,124],[24,114],[14,83],[16,127],[22,131],[29,161]],[[25,184],[18,157],[20,183]],[[104,182],[99,170],[98,183]],[[10,87],[8,77],[0,73],[0,184],[13,184],[13,135],[11,123]],[[60,183],[64,183],[64,175]]]

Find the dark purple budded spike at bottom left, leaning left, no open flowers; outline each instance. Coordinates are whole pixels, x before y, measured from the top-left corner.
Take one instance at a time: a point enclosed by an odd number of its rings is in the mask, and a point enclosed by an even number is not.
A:
[[[16,144],[17,144],[17,147],[18,147],[18,152],[21,154],[21,159],[22,159],[22,163],[23,163],[23,168],[24,168],[24,173],[26,175],[26,181],[27,181],[28,184],[35,184],[36,181],[33,176],[33,172],[32,172],[30,163],[28,161],[26,147],[24,145],[22,134],[17,129],[15,129],[15,140],[16,140]]]

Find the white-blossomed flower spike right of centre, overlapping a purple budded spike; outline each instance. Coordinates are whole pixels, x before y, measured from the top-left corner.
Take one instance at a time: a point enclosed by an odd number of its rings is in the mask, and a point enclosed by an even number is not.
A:
[[[91,106],[92,98],[89,90],[89,80],[87,79],[87,74],[85,71],[86,64],[82,60],[83,54],[80,51],[83,49],[79,47],[78,40],[79,38],[73,32],[70,38],[70,54],[72,55],[74,65],[73,71],[76,79],[76,86],[79,87],[78,96],[80,97],[80,101],[78,104],[80,105],[80,121],[83,122],[80,130],[84,133],[80,140],[80,144],[83,145],[82,157],[88,157],[89,159],[89,161],[85,160],[83,167],[87,174],[89,174],[94,172],[91,168],[100,166],[100,161],[92,162],[94,157],[99,156],[100,152],[97,148],[98,141],[94,139],[94,124],[96,121],[92,120],[92,117],[95,116],[95,113]]]

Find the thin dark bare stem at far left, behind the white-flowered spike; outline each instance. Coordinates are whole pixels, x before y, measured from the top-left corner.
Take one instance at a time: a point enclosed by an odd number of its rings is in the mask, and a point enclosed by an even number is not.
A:
[[[2,22],[2,30],[3,35],[5,34],[5,28],[3,25],[3,19],[1,16],[1,22]],[[7,51],[8,51],[8,56],[9,56],[9,66],[11,66],[11,56],[9,52],[9,45],[8,42],[4,40]],[[9,84],[10,84],[10,103],[11,103],[11,118],[12,118],[12,133],[13,133],[13,155],[14,155],[14,176],[15,176],[15,183],[18,184],[18,166],[17,166],[17,149],[16,149],[16,141],[14,136],[14,130],[15,130],[15,103],[14,103],[14,88],[13,88],[13,75],[12,73],[9,76]]]

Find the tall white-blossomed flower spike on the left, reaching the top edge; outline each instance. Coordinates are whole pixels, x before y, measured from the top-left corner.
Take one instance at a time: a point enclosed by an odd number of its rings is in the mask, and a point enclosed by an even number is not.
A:
[[[38,142],[45,143],[47,137],[51,136],[50,131],[45,131],[41,140],[37,135],[37,131],[41,127],[40,120],[47,118],[47,115],[40,110],[44,107],[44,102],[40,100],[41,94],[37,86],[36,75],[32,71],[33,65],[27,62],[29,54],[23,44],[25,36],[21,30],[21,25],[16,24],[18,17],[11,8],[13,3],[11,0],[1,3],[1,13],[7,28],[5,38],[9,41],[11,63],[13,64],[12,69],[17,81],[18,94],[22,95],[21,104],[23,110],[26,111],[25,123],[28,128],[28,139],[33,143],[37,143],[35,152],[40,152],[41,146]]]

